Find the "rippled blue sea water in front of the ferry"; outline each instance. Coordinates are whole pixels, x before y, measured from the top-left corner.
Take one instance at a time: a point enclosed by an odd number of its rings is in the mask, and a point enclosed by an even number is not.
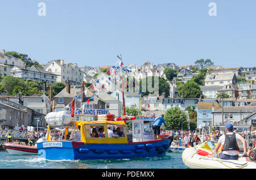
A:
[[[180,152],[167,152],[164,157],[135,158],[122,160],[49,161],[37,155],[9,155],[0,151],[0,169],[184,169],[187,168]]]

